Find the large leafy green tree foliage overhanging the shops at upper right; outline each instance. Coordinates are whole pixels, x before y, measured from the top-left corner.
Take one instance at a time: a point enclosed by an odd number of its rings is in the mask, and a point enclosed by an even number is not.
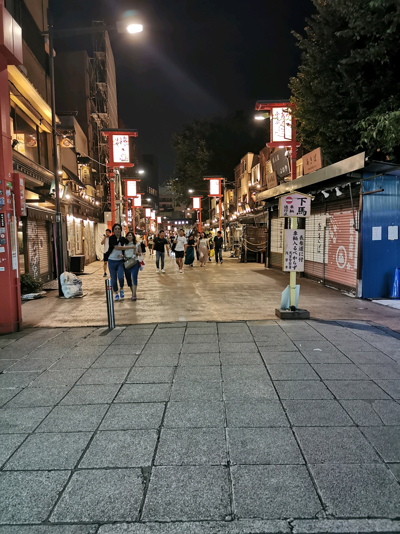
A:
[[[400,108],[400,3],[313,2],[317,13],[307,20],[306,36],[296,35],[302,59],[290,83],[298,139],[308,150],[321,146],[332,160],[354,154],[361,142],[369,154],[379,144],[396,152],[395,136],[384,130]]]

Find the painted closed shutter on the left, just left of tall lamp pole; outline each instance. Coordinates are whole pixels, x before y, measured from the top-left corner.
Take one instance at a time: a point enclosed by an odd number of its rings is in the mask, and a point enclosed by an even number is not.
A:
[[[34,278],[50,279],[50,247],[46,221],[27,218],[29,273]]]

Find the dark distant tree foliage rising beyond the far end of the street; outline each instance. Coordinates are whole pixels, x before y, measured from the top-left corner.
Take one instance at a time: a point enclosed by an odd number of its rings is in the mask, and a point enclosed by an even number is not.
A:
[[[196,120],[174,133],[172,147],[177,161],[171,189],[177,201],[189,204],[189,189],[206,189],[203,176],[225,176],[231,182],[243,155],[258,153],[265,146],[267,131],[249,123],[241,111],[227,119]]]

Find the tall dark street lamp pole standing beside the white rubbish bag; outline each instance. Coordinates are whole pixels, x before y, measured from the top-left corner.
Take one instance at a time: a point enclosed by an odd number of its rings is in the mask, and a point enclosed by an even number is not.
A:
[[[53,170],[55,184],[55,243],[57,246],[57,278],[58,296],[62,297],[61,273],[64,271],[64,250],[62,243],[62,219],[60,210],[59,166],[57,152],[57,123],[55,122],[55,92],[54,92],[54,58],[53,58],[53,17],[47,9],[47,23],[49,24],[49,66],[51,93],[51,129],[53,137]]]

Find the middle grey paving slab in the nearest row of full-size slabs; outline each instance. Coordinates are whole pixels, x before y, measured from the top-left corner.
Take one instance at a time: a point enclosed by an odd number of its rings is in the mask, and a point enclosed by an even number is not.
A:
[[[226,467],[153,468],[143,508],[144,521],[222,521],[230,514]]]

